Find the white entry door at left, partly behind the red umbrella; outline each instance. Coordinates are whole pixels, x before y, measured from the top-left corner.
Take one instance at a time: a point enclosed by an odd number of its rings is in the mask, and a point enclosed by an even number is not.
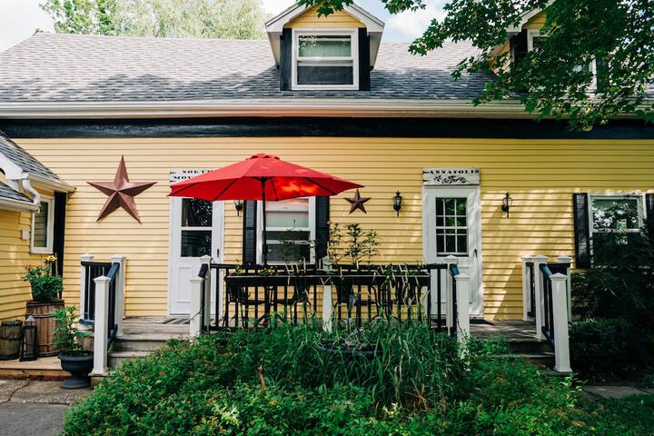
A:
[[[171,315],[190,312],[191,278],[200,271],[200,257],[210,255],[221,262],[223,246],[223,202],[171,198],[171,240],[168,300]],[[212,290],[214,312],[215,283]]]

